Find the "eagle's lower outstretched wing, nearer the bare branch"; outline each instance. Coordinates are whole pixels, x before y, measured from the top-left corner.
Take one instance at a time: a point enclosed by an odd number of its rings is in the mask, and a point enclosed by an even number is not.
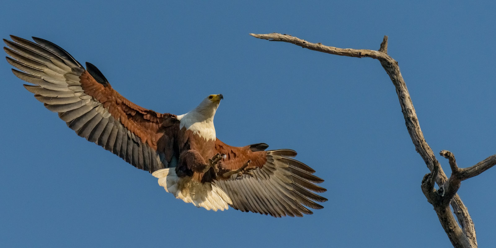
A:
[[[289,149],[265,151],[264,143],[244,147],[229,146],[216,140],[218,153],[226,154],[222,166],[236,170],[248,160],[249,166],[258,169],[251,171],[254,176],[236,175],[225,181],[217,181],[232,200],[232,206],[244,212],[270,214],[274,217],[299,216],[312,214],[307,207],[323,208],[316,202],[327,199],[313,192],[325,192],[326,189],[315,184],[324,182],[313,176],[315,172],[304,163],[292,159],[296,152]],[[312,192],[313,191],[313,192]]]

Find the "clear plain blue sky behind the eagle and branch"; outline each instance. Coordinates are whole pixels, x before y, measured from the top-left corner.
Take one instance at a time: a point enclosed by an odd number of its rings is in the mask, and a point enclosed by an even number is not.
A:
[[[495,10],[489,1],[4,1],[2,38],[50,40],[140,106],[184,114],[222,93],[217,136],[298,151],[329,201],[304,218],[197,209],[75,135],[4,61],[0,246],[450,247],[379,62],[248,33],[374,50],[388,35],[427,142],[467,167],[496,152]],[[459,190],[480,247],[496,243],[495,179],[493,168]]]

